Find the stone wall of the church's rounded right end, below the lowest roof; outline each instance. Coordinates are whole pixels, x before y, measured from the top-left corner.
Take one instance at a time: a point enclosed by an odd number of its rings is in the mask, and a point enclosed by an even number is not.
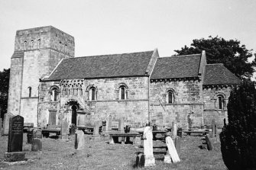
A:
[[[227,104],[230,95],[231,87],[218,88],[217,86],[211,88],[203,88],[203,102],[204,102],[204,122],[207,125],[212,123],[212,119],[215,119],[215,123],[218,127],[223,127],[223,119],[228,122]],[[217,96],[222,95],[224,97],[224,108],[219,110]]]

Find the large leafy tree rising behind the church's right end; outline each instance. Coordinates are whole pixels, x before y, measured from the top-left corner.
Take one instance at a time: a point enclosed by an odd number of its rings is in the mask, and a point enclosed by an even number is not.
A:
[[[222,37],[211,37],[208,39],[195,39],[191,47],[182,47],[174,50],[178,55],[202,53],[206,50],[207,63],[223,63],[226,68],[240,79],[251,78],[256,66],[256,60],[248,63],[248,58],[253,56],[252,50],[247,50],[245,45],[240,45],[239,40],[225,40]],[[256,56],[256,54],[254,54]]]

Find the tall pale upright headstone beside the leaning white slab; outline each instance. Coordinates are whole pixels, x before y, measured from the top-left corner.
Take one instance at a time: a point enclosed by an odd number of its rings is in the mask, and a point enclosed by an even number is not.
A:
[[[151,127],[145,127],[143,133],[144,140],[144,166],[155,165],[155,159],[153,154],[153,133]]]

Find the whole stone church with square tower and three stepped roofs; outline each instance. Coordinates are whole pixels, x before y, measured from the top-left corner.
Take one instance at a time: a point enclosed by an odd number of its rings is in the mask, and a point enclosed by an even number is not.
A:
[[[11,56],[8,112],[35,127],[77,126],[119,118],[170,127],[222,126],[232,87],[240,80],[206,53],[160,57],[138,53],[74,57],[74,37],[55,27],[17,30]]]

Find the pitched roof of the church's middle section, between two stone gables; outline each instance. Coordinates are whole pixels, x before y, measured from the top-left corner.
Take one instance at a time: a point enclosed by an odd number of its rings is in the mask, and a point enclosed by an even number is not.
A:
[[[157,59],[151,79],[198,77],[201,54]]]

